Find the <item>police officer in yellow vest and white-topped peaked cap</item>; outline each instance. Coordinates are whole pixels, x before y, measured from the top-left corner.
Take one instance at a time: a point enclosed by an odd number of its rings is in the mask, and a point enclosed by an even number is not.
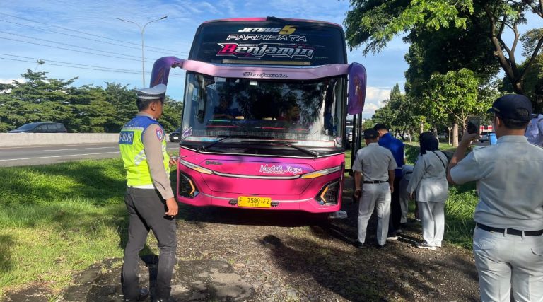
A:
[[[170,281],[175,265],[175,215],[177,202],[170,187],[170,156],[164,129],[156,121],[162,115],[166,86],[136,90],[138,115],[127,122],[119,146],[127,171],[124,202],[129,212],[128,243],[122,265],[124,301],[141,301],[147,289],[139,289],[139,252],[149,230],[158,240],[160,256],[153,301],[170,301]]]

